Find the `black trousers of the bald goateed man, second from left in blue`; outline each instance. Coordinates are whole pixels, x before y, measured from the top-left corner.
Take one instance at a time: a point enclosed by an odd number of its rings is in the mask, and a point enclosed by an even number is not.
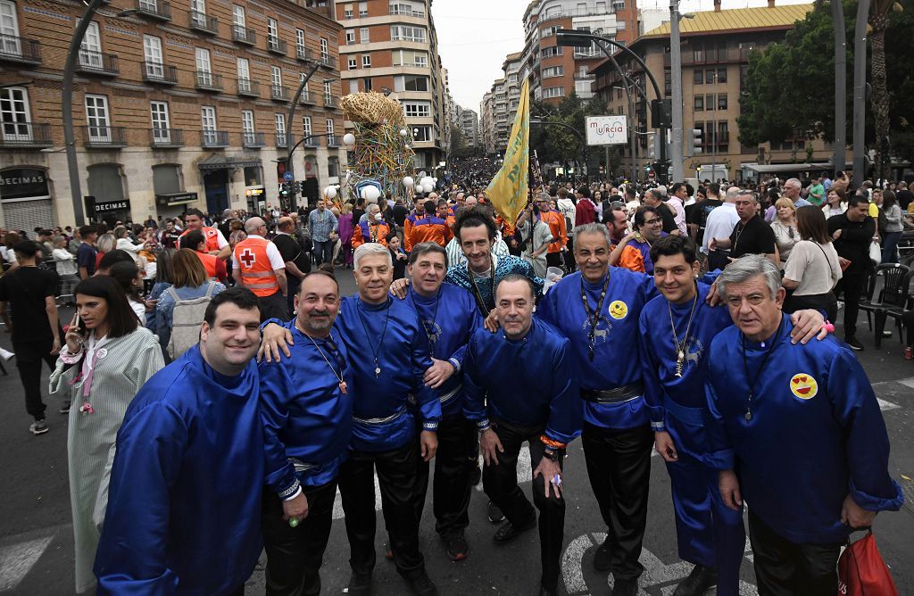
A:
[[[317,579],[324,549],[333,525],[336,480],[320,486],[302,486],[308,499],[308,516],[297,527],[282,519],[282,500],[269,489],[263,492],[263,546],[267,551],[267,590],[275,596],[305,593]],[[307,592],[316,593],[316,592]]]

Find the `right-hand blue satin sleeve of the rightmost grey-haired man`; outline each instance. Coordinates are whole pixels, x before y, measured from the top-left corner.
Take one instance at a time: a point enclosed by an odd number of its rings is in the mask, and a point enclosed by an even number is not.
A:
[[[868,511],[898,511],[904,496],[887,474],[886,422],[863,367],[846,348],[838,351],[829,367],[828,395],[834,418],[847,436],[851,497]]]

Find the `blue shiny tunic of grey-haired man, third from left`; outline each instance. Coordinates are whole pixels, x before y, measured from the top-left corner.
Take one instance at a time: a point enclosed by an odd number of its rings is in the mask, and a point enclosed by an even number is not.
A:
[[[431,366],[429,340],[410,303],[388,297],[384,303],[370,304],[358,296],[346,297],[334,330],[352,367],[351,449],[386,452],[412,441],[416,423],[410,402],[415,403],[423,430],[438,429],[441,403],[423,380]]]

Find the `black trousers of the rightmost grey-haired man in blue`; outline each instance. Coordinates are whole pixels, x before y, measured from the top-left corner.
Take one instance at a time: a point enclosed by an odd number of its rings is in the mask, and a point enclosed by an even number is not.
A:
[[[794,544],[749,509],[749,541],[760,596],[834,596],[843,543]]]

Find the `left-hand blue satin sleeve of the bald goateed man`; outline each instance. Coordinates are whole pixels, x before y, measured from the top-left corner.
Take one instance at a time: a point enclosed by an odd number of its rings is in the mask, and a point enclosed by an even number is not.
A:
[[[296,484],[295,467],[286,457],[279,433],[289,420],[288,399],[296,389],[285,367],[279,363],[260,363],[260,420],[263,422],[263,454],[266,484],[277,495],[283,495]]]

